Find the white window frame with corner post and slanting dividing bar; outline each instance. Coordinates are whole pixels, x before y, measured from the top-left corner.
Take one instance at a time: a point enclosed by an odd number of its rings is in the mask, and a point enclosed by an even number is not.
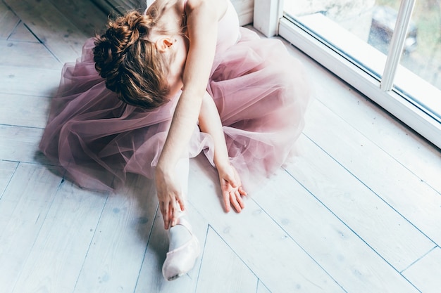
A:
[[[294,0],[286,0],[294,1]],[[391,49],[387,58],[387,66],[383,72],[383,79],[373,76],[363,68],[355,65],[340,53],[323,44],[323,41],[314,37],[301,26],[295,25],[292,21],[283,17],[283,0],[254,0],[254,27],[266,37],[279,35],[291,44],[299,48],[323,67],[332,71],[345,82],[354,86],[355,89],[365,96],[378,103],[385,110],[407,124],[411,129],[417,131],[441,148],[441,123],[439,119],[424,111],[417,103],[404,98],[401,93],[392,89],[392,82],[395,77],[395,69],[399,63],[403,42],[403,35],[409,25],[410,15],[414,7],[414,0],[403,0],[400,8],[404,18],[397,19],[396,34],[391,41]],[[399,30],[402,28],[402,30]],[[416,77],[414,96],[427,96],[429,94],[439,95],[439,91],[433,86],[428,86],[423,79]],[[412,79],[412,80],[414,80]],[[441,96],[437,97],[440,99]]]

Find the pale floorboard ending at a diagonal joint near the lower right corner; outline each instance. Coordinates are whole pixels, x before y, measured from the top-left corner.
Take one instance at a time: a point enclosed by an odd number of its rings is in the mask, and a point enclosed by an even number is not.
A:
[[[302,136],[299,143],[304,143],[308,151],[287,171],[393,268],[402,271],[435,247],[433,241],[312,141]],[[285,200],[289,197],[282,202]]]

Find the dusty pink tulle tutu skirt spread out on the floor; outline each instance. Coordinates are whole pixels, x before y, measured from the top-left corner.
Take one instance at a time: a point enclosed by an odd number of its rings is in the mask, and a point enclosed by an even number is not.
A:
[[[309,87],[282,42],[240,32],[237,44],[216,54],[207,91],[247,188],[290,155],[304,126]],[[64,66],[39,148],[82,188],[113,190],[127,173],[154,176],[177,99],[149,111],[121,102],[97,74],[93,46],[89,39],[82,57]],[[213,164],[211,136],[194,125],[188,155],[202,151]]]

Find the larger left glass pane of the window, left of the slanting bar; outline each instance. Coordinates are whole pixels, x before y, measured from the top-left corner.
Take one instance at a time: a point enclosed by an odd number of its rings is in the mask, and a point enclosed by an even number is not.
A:
[[[399,6],[399,0],[392,0]],[[375,0],[285,0],[287,17],[380,77],[397,11]]]

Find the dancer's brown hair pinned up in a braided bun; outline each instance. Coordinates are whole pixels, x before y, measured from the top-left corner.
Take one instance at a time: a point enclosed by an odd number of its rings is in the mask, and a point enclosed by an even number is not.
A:
[[[106,87],[123,102],[144,109],[166,103],[170,90],[169,60],[148,39],[159,15],[157,10],[149,15],[129,11],[109,20],[106,32],[96,37],[93,50],[95,68],[106,80]]]

